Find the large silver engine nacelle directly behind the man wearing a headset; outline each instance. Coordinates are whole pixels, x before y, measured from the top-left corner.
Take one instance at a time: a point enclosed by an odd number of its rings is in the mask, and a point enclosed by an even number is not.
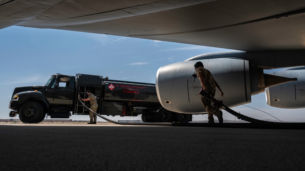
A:
[[[156,90],[164,108],[179,113],[204,113],[198,95],[201,89],[194,74],[194,64],[199,60],[173,63],[161,67],[156,75]],[[223,100],[228,107],[251,102],[249,62],[241,59],[200,60],[211,71],[213,77],[224,92],[223,99],[216,90],[216,99]],[[256,83],[257,84],[257,83]],[[239,104],[241,103],[241,104]]]

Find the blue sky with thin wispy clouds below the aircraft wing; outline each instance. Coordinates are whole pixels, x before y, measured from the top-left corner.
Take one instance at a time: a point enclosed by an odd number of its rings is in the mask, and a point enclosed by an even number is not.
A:
[[[43,85],[56,73],[92,74],[114,80],[155,83],[156,72],[164,65],[203,53],[226,51],[182,43],[20,26],[1,29],[0,37],[0,119],[10,118],[8,105],[15,87]],[[305,122],[304,109],[270,107],[266,104],[264,93],[252,96],[252,103],[247,105],[283,121]],[[264,112],[246,106],[233,110],[257,119],[275,120]],[[71,119],[88,120],[89,116],[72,115]],[[224,119],[235,120],[235,117],[224,112]],[[194,115],[193,120],[207,120],[207,115]],[[103,120],[98,118],[98,121]]]

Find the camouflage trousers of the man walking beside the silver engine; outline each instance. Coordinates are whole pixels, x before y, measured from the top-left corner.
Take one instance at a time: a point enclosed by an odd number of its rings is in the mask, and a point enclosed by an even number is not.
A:
[[[206,91],[209,92],[209,93],[212,93],[213,94],[212,98],[214,98],[215,92],[216,92],[215,84],[213,84],[213,83],[206,84]],[[215,115],[215,116],[217,116],[217,118],[219,118],[220,110],[218,108],[215,108],[212,105],[212,101],[206,100],[203,97],[201,97],[201,102],[202,102],[204,110],[206,110],[208,112],[209,123],[214,123],[213,115]]]

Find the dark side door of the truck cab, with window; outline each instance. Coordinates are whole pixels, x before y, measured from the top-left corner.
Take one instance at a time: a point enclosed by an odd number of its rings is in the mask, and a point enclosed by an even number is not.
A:
[[[71,77],[61,76],[59,87],[55,89],[56,80],[49,85],[47,90],[47,100],[50,104],[72,104],[73,94],[72,88],[74,87]]]

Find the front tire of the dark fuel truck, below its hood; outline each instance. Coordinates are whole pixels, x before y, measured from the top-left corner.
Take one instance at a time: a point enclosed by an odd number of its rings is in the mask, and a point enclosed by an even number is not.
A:
[[[23,123],[39,123],[44,118],[43,107],[36,101],[29,101],[23,104],[19,111],[20,121]]]

